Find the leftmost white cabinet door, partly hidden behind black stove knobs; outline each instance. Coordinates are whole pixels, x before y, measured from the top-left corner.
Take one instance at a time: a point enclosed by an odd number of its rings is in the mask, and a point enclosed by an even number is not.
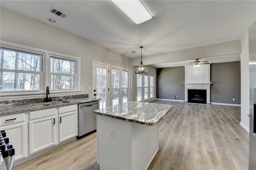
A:
[[[5,130],[6,137],[9,138],[9,143],[12,144],[15,149],[14,160],[19,160],[26,157],[25,154],[25,123],[14,124],[1,127],[1,130]]]

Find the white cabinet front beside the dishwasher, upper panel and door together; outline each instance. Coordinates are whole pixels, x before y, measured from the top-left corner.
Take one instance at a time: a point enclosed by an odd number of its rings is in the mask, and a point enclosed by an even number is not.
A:
[[[78,134],[78,106],[59,107],[59,142],[77,136]]]

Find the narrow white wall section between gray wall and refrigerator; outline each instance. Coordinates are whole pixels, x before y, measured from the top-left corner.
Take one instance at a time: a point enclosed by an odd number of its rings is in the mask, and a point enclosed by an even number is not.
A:
[[[248,33],[241,39],[241,122],[240,125],[249,132],[250,118],[250,80],[249,80],[249,44]]]

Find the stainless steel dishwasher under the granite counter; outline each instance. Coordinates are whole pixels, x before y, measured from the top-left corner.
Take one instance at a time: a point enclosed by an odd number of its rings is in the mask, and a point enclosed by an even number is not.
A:
[[[96,132],[96,114],[93,111],[97,109],[99,109],[99,101],[78,104],[77,139]]]

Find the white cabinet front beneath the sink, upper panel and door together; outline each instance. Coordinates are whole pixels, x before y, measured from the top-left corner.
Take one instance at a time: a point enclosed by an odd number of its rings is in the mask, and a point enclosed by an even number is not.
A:
[[[30,154],[56,144],[56,110],[52,108],[29,113]]]

